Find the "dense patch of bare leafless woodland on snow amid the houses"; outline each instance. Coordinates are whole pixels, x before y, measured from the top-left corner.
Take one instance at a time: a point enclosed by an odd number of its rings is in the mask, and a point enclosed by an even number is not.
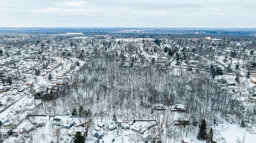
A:
[[[121,119],[160,119],[152,109],[153,104],[181,103],[187,109],[181,118],[190,121],[189,132],[202,119],[210,124],[222,121],[240,124],[242,120],[254,123],[255,107],[243,104],[238,98],[222,84],[213,82],[206,72],[191,74],[183,69],[166,72],[156,65],[122,68],[112,58],[94,57],[66,79],[62,90],[54,92],[54,100],[44,102],[41,109],[68,115],[82,106],[86,113],[92,112],[93,119],[101,121],[114,114]],[[161,124],[172,124],[170,117],[166,114]]]

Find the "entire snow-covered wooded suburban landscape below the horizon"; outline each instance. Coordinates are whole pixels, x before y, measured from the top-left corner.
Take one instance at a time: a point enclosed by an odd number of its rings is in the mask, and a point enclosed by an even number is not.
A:
[[[255,142],[255,31],[67,29],[2,29],[1,142]]]

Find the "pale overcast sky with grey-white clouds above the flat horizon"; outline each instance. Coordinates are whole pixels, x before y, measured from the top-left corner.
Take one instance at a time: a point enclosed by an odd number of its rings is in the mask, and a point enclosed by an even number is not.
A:
[[[256,27],[256,0],[0,0],[0,27]]]

